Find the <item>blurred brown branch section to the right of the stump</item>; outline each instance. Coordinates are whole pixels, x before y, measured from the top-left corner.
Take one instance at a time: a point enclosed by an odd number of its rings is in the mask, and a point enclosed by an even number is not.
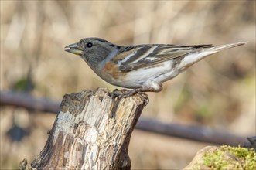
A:
[[[142,131],[155,132],[168,136],[190,139],[193,141],[207,142],[217,145],[238,145],[244,144],[246,138],[238,137],[223,130],[213,130],[207,127],[180,125],[180,124],[163,124],[159,121],[140,119],[136,126]]]

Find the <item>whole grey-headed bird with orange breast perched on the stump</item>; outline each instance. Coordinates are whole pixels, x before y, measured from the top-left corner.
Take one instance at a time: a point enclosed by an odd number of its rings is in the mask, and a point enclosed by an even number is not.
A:
[[[162,83],[171,80],[206,56],[244,45],[237,42],[222,46],[145,44],[118,46],[104,39],[86,38],[65,48],[77,54],[98,76],[118,87],[138,92],[159,92]]]

